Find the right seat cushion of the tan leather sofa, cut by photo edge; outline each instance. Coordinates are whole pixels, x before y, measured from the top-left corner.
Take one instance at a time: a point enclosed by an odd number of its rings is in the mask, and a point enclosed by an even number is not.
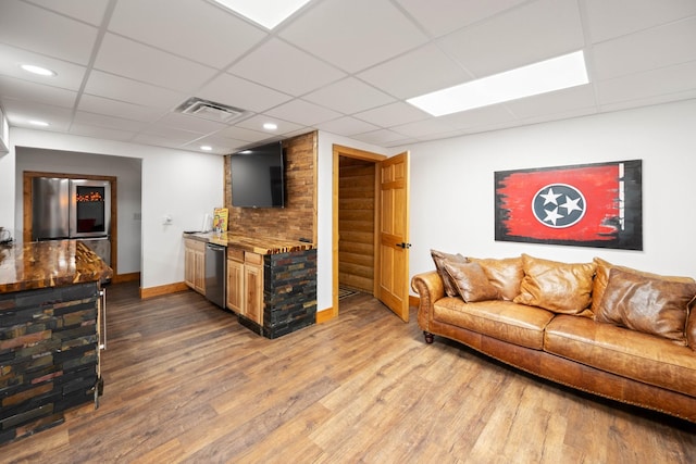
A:
[[[668,390],[696,396],[696,355],[687,347],[636,330],[570,315],[546,327],[544,350]]]

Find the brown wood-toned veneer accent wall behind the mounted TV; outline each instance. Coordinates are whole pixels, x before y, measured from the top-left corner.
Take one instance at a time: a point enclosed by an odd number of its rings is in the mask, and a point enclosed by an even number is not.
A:
[[[229,231],[248,236],[307,239],[316,243],[316,133],[283,141],[285,149],[285,208],[234,208],[229,155],[225,156],[225,208]]]

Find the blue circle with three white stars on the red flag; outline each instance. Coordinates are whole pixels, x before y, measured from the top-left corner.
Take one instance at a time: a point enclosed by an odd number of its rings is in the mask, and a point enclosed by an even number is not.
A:
[[[580,189],[568,184],[549,184],[532,199],[534,217],[547,227],[563,228],[577,224],[587,203]]]

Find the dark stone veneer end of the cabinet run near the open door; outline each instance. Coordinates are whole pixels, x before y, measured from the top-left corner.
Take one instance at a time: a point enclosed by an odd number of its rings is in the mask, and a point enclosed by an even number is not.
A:
[[[316,319],[316,249],[266,254],[263,336],[278,338]]]

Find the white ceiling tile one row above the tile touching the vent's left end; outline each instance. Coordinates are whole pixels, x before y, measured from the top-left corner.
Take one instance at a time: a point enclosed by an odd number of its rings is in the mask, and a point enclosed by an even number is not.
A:
[[[196,90],[215,74],[212,67],[113,34],[104,36],[95,67],[179,91]]]

